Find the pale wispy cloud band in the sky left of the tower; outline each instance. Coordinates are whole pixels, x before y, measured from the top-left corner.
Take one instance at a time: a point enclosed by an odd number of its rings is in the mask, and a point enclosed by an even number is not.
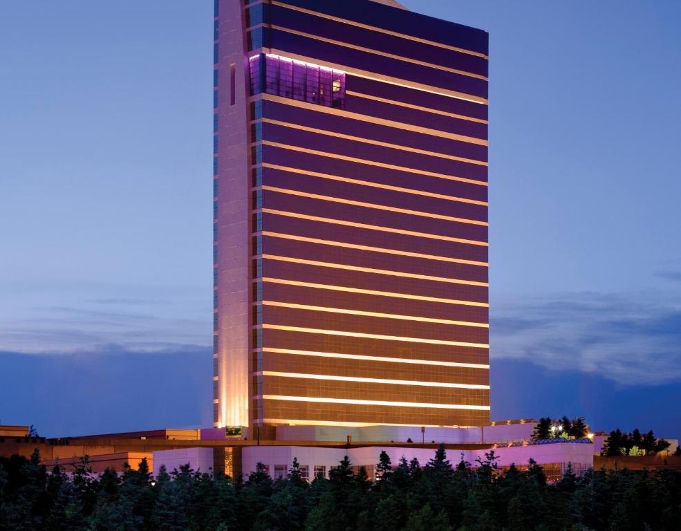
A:
[[[4,351],[102,352],[116,344],[158,352],[212,342],[209,287],[32,286],[9,300],[14,304],[0,304]]]

